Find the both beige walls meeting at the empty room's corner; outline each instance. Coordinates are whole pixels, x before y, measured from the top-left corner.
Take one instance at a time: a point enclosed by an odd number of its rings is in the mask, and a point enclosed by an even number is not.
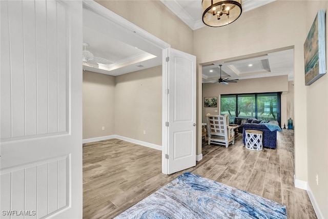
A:
[[[161,66],[116,77],[84,71],[83,139],[115,134],[161,145],[161,83]]]

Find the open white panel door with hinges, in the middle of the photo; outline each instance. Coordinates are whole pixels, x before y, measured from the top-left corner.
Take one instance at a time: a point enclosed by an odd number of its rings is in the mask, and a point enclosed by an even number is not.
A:
[[[196,165],[196,56],[163,50],[162,172],[171,174]]]

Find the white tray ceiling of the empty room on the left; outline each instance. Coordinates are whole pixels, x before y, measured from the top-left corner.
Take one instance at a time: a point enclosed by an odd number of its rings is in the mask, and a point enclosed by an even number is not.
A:
[[[158,47],[87,6],[83,8],[83,42],[89,44],[87,50],[95,57],[112,63],[97,66],[83,63],[84,70],[117,76],[162,64],[162,51]]]

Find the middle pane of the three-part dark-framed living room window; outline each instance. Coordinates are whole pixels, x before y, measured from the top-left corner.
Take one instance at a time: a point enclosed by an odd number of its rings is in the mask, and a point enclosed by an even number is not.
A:
[[[255,94],[238,95],[238,117],[255,118]]]

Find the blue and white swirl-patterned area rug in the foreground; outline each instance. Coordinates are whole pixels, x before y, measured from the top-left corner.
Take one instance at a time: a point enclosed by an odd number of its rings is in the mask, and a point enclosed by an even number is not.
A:
[[[286,207],[184,173],[115,218],[287,218]]]

